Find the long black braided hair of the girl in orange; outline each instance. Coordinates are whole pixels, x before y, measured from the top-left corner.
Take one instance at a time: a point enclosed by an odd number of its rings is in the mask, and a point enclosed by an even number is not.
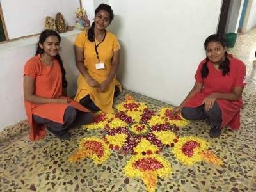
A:
[[[61,42],[61,37],[60,35],[56,32],[56,31],[53,31],[53,30],[44,30],[42,31],[42,33],[40,34],[39,36],[39,41],[38,43],[36,44],[37,45],[37,49],[36,49],[36,54],[35,55],[38,55],[38,54],[43,54],[44,53],[44,49],[42,49],[39,44],[43,44],[46,40],[47,37],[49,36],[57,36],[59,42]],[[58,63],[60,64],[60,68],[61,68],[61,73],[62,73],[62,86],[63,88],[67,88],[68,86],[68,83],[67,83],[67,80],[66,80],[66,71],[65,71],[65,68],[63,67],[63,62],[60,58],[60,55],[57,54],[55,56],[56,60],[58,60]]]

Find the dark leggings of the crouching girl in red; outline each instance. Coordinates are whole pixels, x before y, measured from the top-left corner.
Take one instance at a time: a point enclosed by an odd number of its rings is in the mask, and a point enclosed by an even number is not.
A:
[[[181,115],[188,120],[202,120],[209,118],[211,125],[220,127],[222,118],[221,118],[221,109],[218,102],[214,102],[213,107],[206,111],[204,105],[197,108],[188,108],[184,107],[181,110]]]

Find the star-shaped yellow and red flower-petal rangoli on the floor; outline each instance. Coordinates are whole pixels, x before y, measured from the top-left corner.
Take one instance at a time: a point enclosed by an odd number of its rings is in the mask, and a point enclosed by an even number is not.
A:
[[[179,128],[189,122],[180,114],[173,116],[172,108],[161,108],[156,112],[147,104],[127,96],[116,109],[117,113],[96,113],[92,124],[83,126],[85,129],[102,129],[102,138],[83,138],[79,141],[79,150],[69,157],[69,161],[90,158],[94,163],[102,164],[108,160],[111,150],[130,154],[124,174],[142,179],[147,191],[155,191],[157,176],[168,177],[172,173],[172,164],[161,156],[162,150],[170,149],[185,165],[198,161],[222,163],[207,150],[209,143],[205,140],[178,136]]]

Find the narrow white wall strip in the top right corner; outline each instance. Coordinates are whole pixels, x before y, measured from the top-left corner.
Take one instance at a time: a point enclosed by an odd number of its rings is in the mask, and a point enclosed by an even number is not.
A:
[[[248,2],[242,31],[245,33],[256,26],[256,0]]]

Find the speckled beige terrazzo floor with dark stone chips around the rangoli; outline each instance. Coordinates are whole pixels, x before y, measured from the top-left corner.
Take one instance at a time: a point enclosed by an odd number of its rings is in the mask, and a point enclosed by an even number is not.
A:
[[[172,164],[168,177],[157,177],[157,191],[256,191],[256,29],[239,35],[236,47],[229,50],[246,63],[248,85],[244,89],[241,129],[224,129],[220,138],[208,136],[204,122],[191,122],[179,130],[179,136],[196,136],[211,143],[209,150],[223,164],[198,161],[190,166],[179,161],[173,152],[163,148],[161,156]],[[168,104],[124,90],[125,95],[147,103],[159,111]],[[102,164],[91,159],[77,163],[67,161],[77,151],[77,141],[85,137],[102,138],[100,130],[73,129],[72,138],[60,141],[47,135],[44,140],[28,140],[26,121],[0,132],[0,191],[145,191],[143,180],[124,176],[124,167],[131,154],[111,152]]]

